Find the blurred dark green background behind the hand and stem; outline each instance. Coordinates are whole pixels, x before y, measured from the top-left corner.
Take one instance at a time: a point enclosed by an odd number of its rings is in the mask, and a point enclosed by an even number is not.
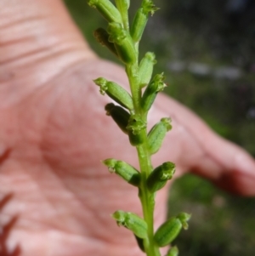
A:
[[[165,92],[255,156],[255,1],[154,2],[161,10],[150,18],[141,51],[155,52]],[[94,40],[93,31],[106,26],[99,14],[86,0],[65,3],[91,47],[116,61]],[[131,14],[139,3],[131,0]],[[193,214],[190,229],[173,242],[181,255],[254,256],[254,198],[231,196],[189,174],[174,183],[169,209]]]

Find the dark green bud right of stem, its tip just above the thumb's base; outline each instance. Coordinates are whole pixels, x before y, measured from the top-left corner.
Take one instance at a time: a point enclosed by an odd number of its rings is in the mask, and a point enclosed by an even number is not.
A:
[[[165,77],[163,76],[163,73],[161,73],[153,77],[153,79],[150,81],[149,85],[144,91],[141,101],[143,111],[147,112],[150,110],[151,105],[156,99],[156,94],[161,92],[166,87],[166,84],[163,82],[164,79]]]

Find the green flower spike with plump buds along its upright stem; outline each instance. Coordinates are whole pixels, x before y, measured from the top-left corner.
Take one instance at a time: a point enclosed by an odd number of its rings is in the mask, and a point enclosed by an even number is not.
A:
[[[147,256],[160,256],[160,247],[168,246],[178,236],[180,230],[187,229],[190,214],[179,213],[168,219],[156,231],[154,230],[154,208],[156,191],[159,191],[167,180],[173,178],[175,164],[163,162],[153,168],[151,156],[161,148],[162,141],[171,130],[171,119],[163,117],[153,128],[147,131],[147,116],[156,95],[166,84],[164,74],[152,77],[156,64],[155,54],[148,52],[139,60],[139,42],[149,15],[158,8],[151,0],[141,1],[141,6],[134,15],[129,26],[129,0],[88,0],[88,5],[97,9],[108,22],[107,30],[99,28],[94,31],[94,37],[99,43],[110,49],[125,65],[131,94],[116,82],[104,77],[94,80],[101,94],[107,94],[116,104],[105,105],[108,116],[116,122],[124,134],[127,134],[130,144],[136,147],[139,157],[139,170],[127,162],[109,158],[103,161],[111,173],[122,177],[130,185],[139,190],[139,199],[143,208],[143,217],[135,213],[121,210],[112,214],[117,225],[124,226],[133,232],[140,249]],[[144,89],[143,89],[144,88]],[[178,248],[171,247],[167,256],[177,256]]]

